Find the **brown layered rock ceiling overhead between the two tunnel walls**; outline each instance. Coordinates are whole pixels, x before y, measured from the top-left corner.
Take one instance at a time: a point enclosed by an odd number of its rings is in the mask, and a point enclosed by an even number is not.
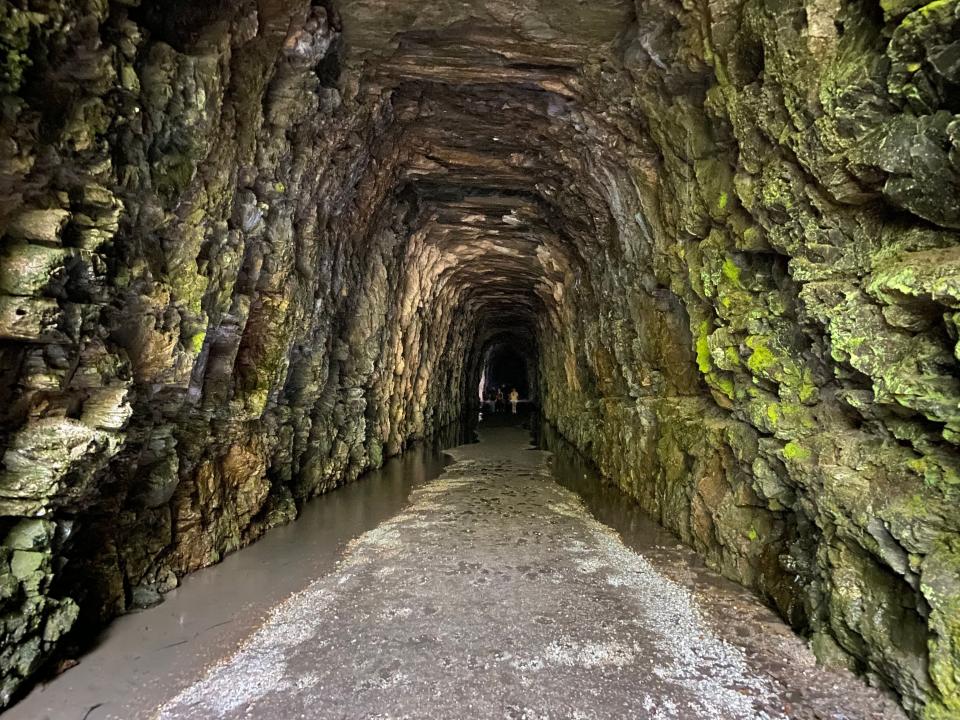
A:
[[[414,230],[446,258],[439,284],[484,324],[542,321],[577,262],[570,233],[598,232],[588,208],[555,200],[579,142],[579,65],[612,47],[632,4],[358,1],[340,12],[361,92],[392,90],[406,148],[395,191],[416,198]]]

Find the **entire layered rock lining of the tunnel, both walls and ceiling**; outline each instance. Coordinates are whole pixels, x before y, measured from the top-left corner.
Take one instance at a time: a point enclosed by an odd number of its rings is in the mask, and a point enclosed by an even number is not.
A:
[[[960,5],[0,8],[4,697],[476,403],[960,713]]]

